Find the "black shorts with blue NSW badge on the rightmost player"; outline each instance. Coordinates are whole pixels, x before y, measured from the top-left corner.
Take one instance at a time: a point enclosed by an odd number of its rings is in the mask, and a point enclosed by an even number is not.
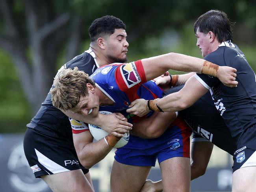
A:
[[[233,155],[233,172],[239,168],[256,166],[256,126],[245,130]]]

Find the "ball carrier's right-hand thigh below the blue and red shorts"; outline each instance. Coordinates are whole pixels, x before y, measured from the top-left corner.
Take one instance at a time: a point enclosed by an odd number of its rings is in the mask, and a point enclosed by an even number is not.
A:
[[[163,191],[189,192],[190,159],[173,157],[160,163]]]

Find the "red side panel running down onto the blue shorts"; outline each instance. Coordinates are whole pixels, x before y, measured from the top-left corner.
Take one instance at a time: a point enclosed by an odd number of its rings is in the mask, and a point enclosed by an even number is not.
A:
[[[183,143],[183,157],[190,158],[190,135],[192,133],[192,129],[187,125],[187,123],[181,118],[177,117],[174,122],[169,126],[178,126],[182,135],[182,143]]]

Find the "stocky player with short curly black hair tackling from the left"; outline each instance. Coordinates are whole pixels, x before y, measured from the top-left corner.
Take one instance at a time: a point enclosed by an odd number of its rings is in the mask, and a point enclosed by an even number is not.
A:
[[[124,63],[129,46],[125,29],[125,24],[113,16],[94,20],[89,28],[89,50],[63,65],[58,73],[63,68],[78,67],[91,75],[99,66]],[[94,124],[98,122],[98,126],[115,136],[121,137],[131,129],[132,124],[123,121],[121,114],[100,116]],[[72,128],[79,130],[81,126],[76,124]],[[89,170],[76,155],[69,118],[52,105],[50,92],[27,125],[24,151],[35,177],[41,177],[53,191],[93,191]]]

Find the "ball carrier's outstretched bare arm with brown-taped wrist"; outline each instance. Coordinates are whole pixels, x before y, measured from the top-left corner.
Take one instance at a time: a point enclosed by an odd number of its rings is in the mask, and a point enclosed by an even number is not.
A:
[[[141,60],[147,81],[154,79],[167,70],[173,69],[184,72],[197,72],[214,75],[223,82],[224,85],[236,87],[236,69],[228,66],[217,66],[205,63],[206,60],[191,57],[183,54],[169,53],[150,57]]]

